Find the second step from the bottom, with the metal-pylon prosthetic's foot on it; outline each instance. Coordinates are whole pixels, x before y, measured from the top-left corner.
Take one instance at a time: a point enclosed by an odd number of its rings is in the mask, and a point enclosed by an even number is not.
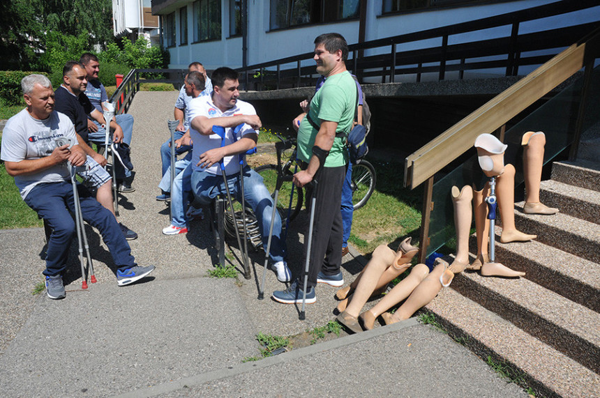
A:
[[[526,278],[457,274],[452,288],[513,325],[600,372],[600,314]]]

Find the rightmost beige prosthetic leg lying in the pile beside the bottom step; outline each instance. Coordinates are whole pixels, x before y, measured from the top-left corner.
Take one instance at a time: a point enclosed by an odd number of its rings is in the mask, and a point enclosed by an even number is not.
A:
[[[442,290],[442,284],[440,283],[440,276],[446,270],[448,264],[440,263],[427,277],[417,286],[417,288],[410,293],[410,296],[406,299],[403,305],[400,305],[396,312],[389,314],[389,312],[384,312],[382,314],[382,318],[386,325],[390,325],[391,323],[396,323],[400,321],[404,321],[405,319],[409,319],[412,314],[417,312],[417,309],[427,305],[437,293],[440,293]]]

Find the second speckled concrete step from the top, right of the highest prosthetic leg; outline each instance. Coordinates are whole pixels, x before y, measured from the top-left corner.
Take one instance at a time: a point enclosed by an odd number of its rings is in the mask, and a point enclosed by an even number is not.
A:
[[[559,181],[542,181],[541,203],[561,213],[600,224],[600,191],[587,190]]]

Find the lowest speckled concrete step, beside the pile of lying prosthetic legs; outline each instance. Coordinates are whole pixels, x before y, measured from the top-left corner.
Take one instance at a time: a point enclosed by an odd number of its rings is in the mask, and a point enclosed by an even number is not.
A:
[[[450,288],[426,308],[459,342],[487,360],[507,362],[541,397],[599,397],[600,376]]]

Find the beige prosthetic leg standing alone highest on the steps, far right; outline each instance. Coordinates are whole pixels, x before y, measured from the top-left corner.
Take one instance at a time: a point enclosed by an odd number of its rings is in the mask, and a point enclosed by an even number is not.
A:
[[[541,168],[543,166],[543,147],[546,135],[543,132],[528,131],[521,140],[523,146],[523,176],[525,176],[525,206],[523,213],[552,215],[557,208],[548,207],[539,201]]]

